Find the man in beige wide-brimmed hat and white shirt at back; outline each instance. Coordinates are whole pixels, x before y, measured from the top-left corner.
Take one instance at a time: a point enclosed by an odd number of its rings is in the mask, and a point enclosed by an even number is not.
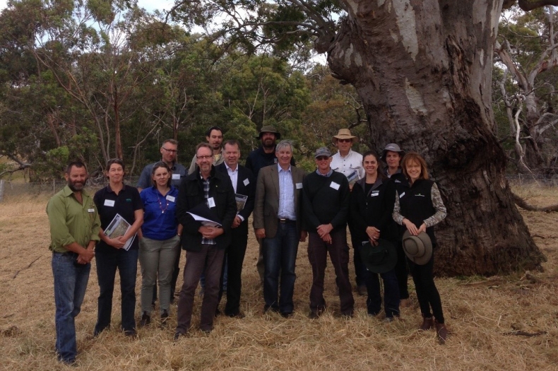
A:
[[[358,179],[364,177],[364,168],[362,167],[362,155],[352,151],[352,143],[358,141],[358,138],[350,133],[349,129],[339,129],[337,135],[333,136],[333,144],[336,145],[338,151],[331,157],[331,169],[340,172],[349,181],[349,187]],[[348,220],[349,230],[352,233],[352,223]],[[366,290],[366,266],[360,259],[360,245],[358,241],[351,241],[352,248],[355,250],[353,261],[355,263],[355,275],[357,281],[357,291],[359,295],[367,295]]]

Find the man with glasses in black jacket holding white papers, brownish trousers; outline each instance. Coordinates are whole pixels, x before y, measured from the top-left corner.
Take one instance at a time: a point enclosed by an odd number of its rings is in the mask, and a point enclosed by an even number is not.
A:
[[[208,143],[196,147],[198,170],[182,181],[177,201],[177,219],[184,225],[182,249],[186,250],[184,284],[178,302],[178,324],[174,339],[190,328],[194,293],[201,273],[206,272],[206,288],[201,305],[201,331],[213,330],[213,316],[218,305],[219,281],[225,247],[230,243],[230,228],[237,214],[235,190],[229,177],[217,172],[212,165],[213,150]],[[203,225],[188,212],[194,206],[206,204],[218,218],[220,226]]]

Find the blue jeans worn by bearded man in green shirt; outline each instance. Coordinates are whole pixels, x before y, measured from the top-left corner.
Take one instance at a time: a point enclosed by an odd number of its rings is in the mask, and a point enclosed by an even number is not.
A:
[[[76,326],[73,319],[81,310],[91,270],[91,264],[78,264],[77,257],[78,254],[73,252],[52,254],[57,328],[56,351],[59,360],[66,363],[76,360],[78,353]]]

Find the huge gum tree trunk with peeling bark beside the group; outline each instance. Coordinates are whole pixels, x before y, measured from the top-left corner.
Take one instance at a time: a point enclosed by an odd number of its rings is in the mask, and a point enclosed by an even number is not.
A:
[[[328,50],[333,72],[364,102],[372,148],[425,156],[448,209],[437,273],[504,273],[545,261],[504,177],[492,134],[491,71],[498,0],[343,0]]]

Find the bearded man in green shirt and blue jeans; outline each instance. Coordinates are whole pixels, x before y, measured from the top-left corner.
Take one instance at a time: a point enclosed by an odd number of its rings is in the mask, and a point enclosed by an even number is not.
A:
[[[73,364],[77,355],[74,318],[85,297],[101,222],[93,198],[83,190],[88,177],[85,165],[70,163],[64,177],[68,184],[49,200],[47,215],[56,306],[55,349],[59,361]]]

